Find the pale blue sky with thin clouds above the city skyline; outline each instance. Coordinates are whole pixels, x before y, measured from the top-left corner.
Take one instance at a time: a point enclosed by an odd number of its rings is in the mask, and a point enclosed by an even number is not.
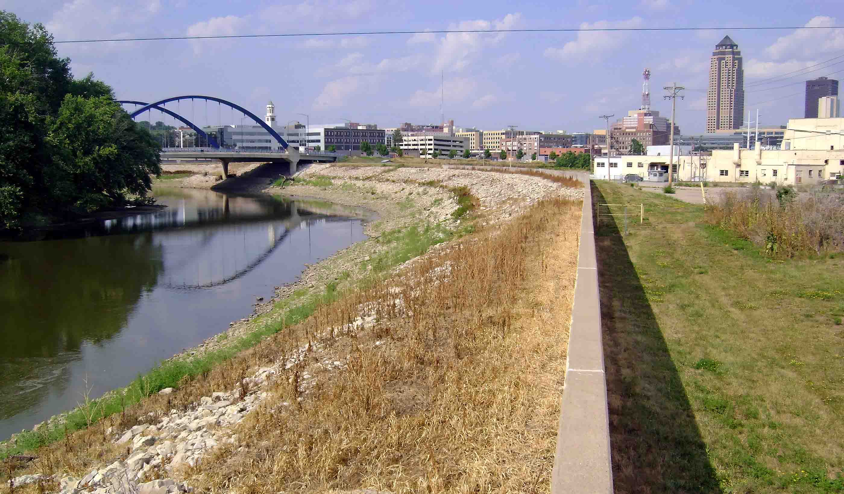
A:
[[[840,0],[630,0],[630,2],[398,2],[393,0],[4,0],[0,8],[41,22],[56,40],[165,35],[244,35],[368,30],[538,29],[573,27],[749,27],[841,25]],[[836,19],[836,16],[838,19]],[[348,118],[397,126],[440,121],[457,126],[591,132],[598,115],[625,115],[641,101],[641,72],[652,71],[655,110],[670,116],[663,86],[685,86],[677,123],[704,129],[709,56],[723,35],[744,56],[746,109],[760,125],[803,116],[806,78],[844,63],[769,85],[760,78],[844,54],[844,30],[370,35],[245,40],[170,40],[60,45],[73,72],[95,76],[120,99],[179,94],[230,99],[257,115],[273,99],[279,122],[311,115],[311,124]],[[844,59],[841,59],[844,60]],[[836,62],[840,62],[838,60]],[[844,72],[832,75],[840,78]],[[790,84],[790,85],[787,85]],[[785,87],[780,87],[785,85]],[[771,88],[771,89],[766,89]],[[751,89],[756,89],[751,92]],[[765,90],[760,90],[765,89]],[[771,101],[771,99],[774,99]],[[760,103],[760,105],[755,105]],[[216,104],[180,105],[203,123],[240,123]],[[168,117],[169,119],[169,117]],[[162,119],[167,121],[167,119]],[[171,120],[171,119],[170,119]]]

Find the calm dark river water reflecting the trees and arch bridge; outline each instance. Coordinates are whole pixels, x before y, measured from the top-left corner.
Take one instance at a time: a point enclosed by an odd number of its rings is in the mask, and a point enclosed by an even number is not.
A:
[[[365,239],[318,201],[154,191],[158,212],[0,242],[0,440],[128,384]],[[87,381],[87,384],[86,384]]]

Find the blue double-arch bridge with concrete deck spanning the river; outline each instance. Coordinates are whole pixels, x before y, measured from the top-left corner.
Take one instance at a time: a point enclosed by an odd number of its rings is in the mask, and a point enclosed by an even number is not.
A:
[[[214,101],[218,105],[226,105],[230,107],[232,110],[237,110],[244,115],[245,118],[250,118],[252,121],[255,121],[258,125],[262,126],[265,131],[269,133],[273,139],[278,142],[278,150],[275,151],[258,151],[258,152],[250,152],[250,151],[241,151],[240,149],[236,148],[221,148],[219,143],[217,142],[216,137],[209,135],[207,132],[204,132],[199,126],[194,124],[192,121],[187,120],[184,115],[179,115],[173,110],[166,108],[168,103],[178,102],[183,100],[204,100],[204,101]],[[236,105],[231,101],[227,101],[221,98],[215,98],[214,96],[204,96],[200,94],[188,94],[185,96],[174,96],[172,98],[161,99],[160,101],[155,101],[154,103],[145,103],[143,101],[134,101],[129,99],[121,99],[118,100],[117,103],[122,105],[135,105],[135,110],[131,111],[129,115],[132,118],[137,117],[138,115],[142,115],[143,112],[152,112],[153,110],[160,111],[167,115],[172,116],[178,121],[181,121],[186,126],[192,128],[194,132],[197,132],[197,136],[199,137],[199,142],[207,142],[208,146],[205,148],[164,148],[161,153],[162,159],[217,159],[219,160],[220,164],[223,165],[223,178],[226,179],[229,177],[229,164],[232,162],[238,163],[279,163],[279,164],[289,164],[289,175],[293,175],[296,173],[296,164],[299,162],[313,162],[313,161],[321,161],[321,162],[329,162],[329,161],[336,161],[337,154],[336,153],[300,153],[298,148],[294,146],[290,146],[287,141],[284,140],[284,137],[281,137],[279,132],[273,129],[272,126],[269,126],[267,122],[263,121],[259,116],[255,115],[246,108],[243,108],[240,105]],[[139,107],[139,108],[138,108]],[[170,105],[172,108],[172,105]],[[152,118],[150,118],[152,121]]]

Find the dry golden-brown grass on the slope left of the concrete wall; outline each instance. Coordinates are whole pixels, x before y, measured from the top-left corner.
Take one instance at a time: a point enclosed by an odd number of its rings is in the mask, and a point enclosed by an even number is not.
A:
[[[579,202],[539,202],[495,231],[465,237],[317,309],[173,395],[154,395],[41,448],[38,465],[13,475],[79,475],[125,459],[107,427],[122,431],[153,422],[148,414],[187,410],[202,396],[234,389],[255,368],[322,341],[270,384],[271,396],[237,428],[235,445],[184,472],[192,485],[549,491],[579,223]],[[361,308],[375,308],[375,325],[349,325]],[[346,368],[318,373],[316,363],[327,357]],[[300,384],[306,369],[312,387]]]

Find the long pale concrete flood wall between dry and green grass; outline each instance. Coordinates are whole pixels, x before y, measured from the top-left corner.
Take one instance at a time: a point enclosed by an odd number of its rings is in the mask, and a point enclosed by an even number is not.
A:
[[[506,169],[500,166],[443,165],[445,169]],[[603,367],[598,260],[592,223],[592,191],[587,172],[535,169],[579,180],[584,185],[577,281],[571,308],[571,329],[565,366],[557,452],[551,492],[613,492],[609,449],[607,379]]]

